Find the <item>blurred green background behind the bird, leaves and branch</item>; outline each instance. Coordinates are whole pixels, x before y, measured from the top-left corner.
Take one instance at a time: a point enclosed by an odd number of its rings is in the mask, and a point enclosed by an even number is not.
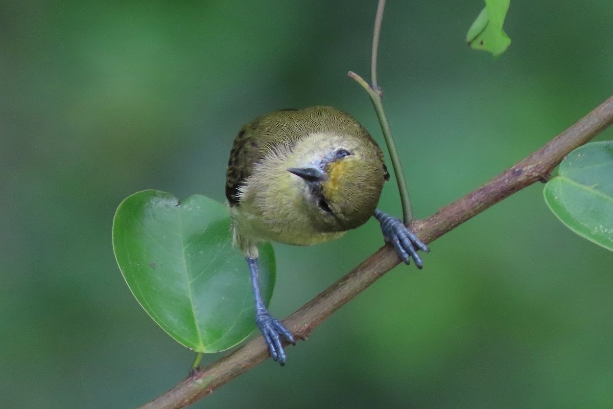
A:
[[[498,59],[464,43],[482,6],[387,5],[379,82],[420,218],[613,93],[610,0],[513,0]],[[0,408],[132,408],[185,378],[194,354],[115,264],[115,208],[147,188],[224,201],[232,139],[270,110],[334,105],[383,143],[346,77],[368,75],[375,10],[0,3]],[[613,407],[613,254],[566,229],[542,189],[436,240],[424,270],[397,267],[288,348],[286,367],[264,362],[193,407]],[[380,206],[400,215],[394,182]],[[273,314],[381,244],[370,221],[325,245],[276,245]]]

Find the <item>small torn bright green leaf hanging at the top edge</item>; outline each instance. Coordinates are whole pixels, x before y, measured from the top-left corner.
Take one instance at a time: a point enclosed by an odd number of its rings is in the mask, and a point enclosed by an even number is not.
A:
[[[502,26],[510,0],[485,0],[485,7],[468,29],[466,42],[475,50],[500,55],[509,47],[511,39]]]

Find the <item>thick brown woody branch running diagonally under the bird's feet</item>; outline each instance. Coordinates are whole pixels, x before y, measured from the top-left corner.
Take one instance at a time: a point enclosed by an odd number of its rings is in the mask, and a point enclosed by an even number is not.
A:
[[[489,183],[447,205],[435,215],[414,221],[411,224],[413,231],[425,243],[432,242],[505,197],[539,180],[546,180],[564,156],[612,123],[613,97],[610,97],[543,148],[517,162]],[[379,249],[345,277],[289,316],[284,324],[296,338],[307,338],[324,319],[395,267],[398,262],[400,260],[391,247]],[[238,350],[197,370],[166,394],[144,405],[142,409],[184,408],[253,368],[268,356],[263,338],[257,337]]]

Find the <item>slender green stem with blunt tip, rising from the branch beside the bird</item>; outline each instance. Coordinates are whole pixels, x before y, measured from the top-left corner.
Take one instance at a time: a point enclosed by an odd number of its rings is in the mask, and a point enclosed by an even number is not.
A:
[[[373,102],[379,124],[381,124],[381,131],[383,131],[383,137],[389,151],[389,157],[392,161],[392,167],[394,168],[394,175],[396,175],[396,182],[398,183],[398,193],[400,193],[400,203],[402,204],[402,218],[405,224],[413,221],[413,210],[411,209],[411,200],[409,199],[409,189],[406,187],[405,173],[402,171],[402,164],[400,164],[400,156],[398,156],[398,150],[394,143],[394,137],[392,137],[392,131],[387,123],[387,117],[383,109],[383,101],[381,100],[380,91],[376,91],[370,86],[364,78],[355,72],[349,71],[349,77],[356,80],[362,88],[364,88],[370,100]]]

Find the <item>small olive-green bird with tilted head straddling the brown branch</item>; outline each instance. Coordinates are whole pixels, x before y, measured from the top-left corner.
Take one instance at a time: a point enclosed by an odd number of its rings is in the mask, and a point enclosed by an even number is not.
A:
[[[397,218],[376,208],[389,179],[383,153],[368,131],[345,112],[316,106],[256,118],[234,140],[226,196],[234,243],[245,255],[256,302],[256,324],[275,361],[284,365],[281,337],[291,332],[262,301],[258,245],[311,245],[335,239],[371,217],[409,264],[421,269],[417,249],[429,251]]]

